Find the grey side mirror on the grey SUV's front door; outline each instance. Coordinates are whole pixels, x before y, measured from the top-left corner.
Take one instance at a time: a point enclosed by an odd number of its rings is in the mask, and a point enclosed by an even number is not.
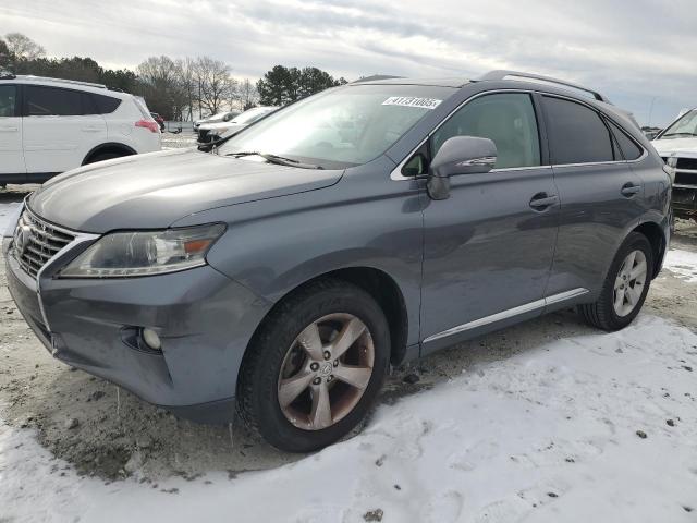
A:
[[[497,146],[489,138],[453,136],[431,160],[428,194],[433,199],[450,196],[450,177],[489,172],[497,162]]]

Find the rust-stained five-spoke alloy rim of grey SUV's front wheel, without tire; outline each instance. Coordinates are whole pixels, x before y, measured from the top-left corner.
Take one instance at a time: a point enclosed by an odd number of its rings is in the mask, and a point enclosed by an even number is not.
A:
[[[278,379],[283,415],[304,430],[321,430],[346,416],[360,401],[375,363],[366,325],[352,314],[313,321],[288,350]]]

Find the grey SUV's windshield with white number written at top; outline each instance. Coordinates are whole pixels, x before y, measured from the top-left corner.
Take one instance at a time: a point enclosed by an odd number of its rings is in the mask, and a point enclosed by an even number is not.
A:
[[[281,109],[222,144],[220,155],[262,153],[340,169],[366,163],[456,89],[354,85]]]

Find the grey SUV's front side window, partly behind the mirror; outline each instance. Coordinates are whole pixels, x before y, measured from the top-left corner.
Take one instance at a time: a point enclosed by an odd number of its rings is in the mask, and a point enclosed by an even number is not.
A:
[[[497,145],[497,169],[540,165],[540,139],[530,95],[486,95],[458,109],[431,137],[433,156],[448,138],[478,136]]]

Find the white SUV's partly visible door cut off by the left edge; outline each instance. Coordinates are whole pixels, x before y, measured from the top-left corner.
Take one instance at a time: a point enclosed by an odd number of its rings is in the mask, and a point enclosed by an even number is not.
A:
[[[2,174],[14,174],[12,180],[20,181],[22,178],[17,174],[23,177],[26,172],[19,95],[19,86],[4,83],[0,85],[0,183]]]

